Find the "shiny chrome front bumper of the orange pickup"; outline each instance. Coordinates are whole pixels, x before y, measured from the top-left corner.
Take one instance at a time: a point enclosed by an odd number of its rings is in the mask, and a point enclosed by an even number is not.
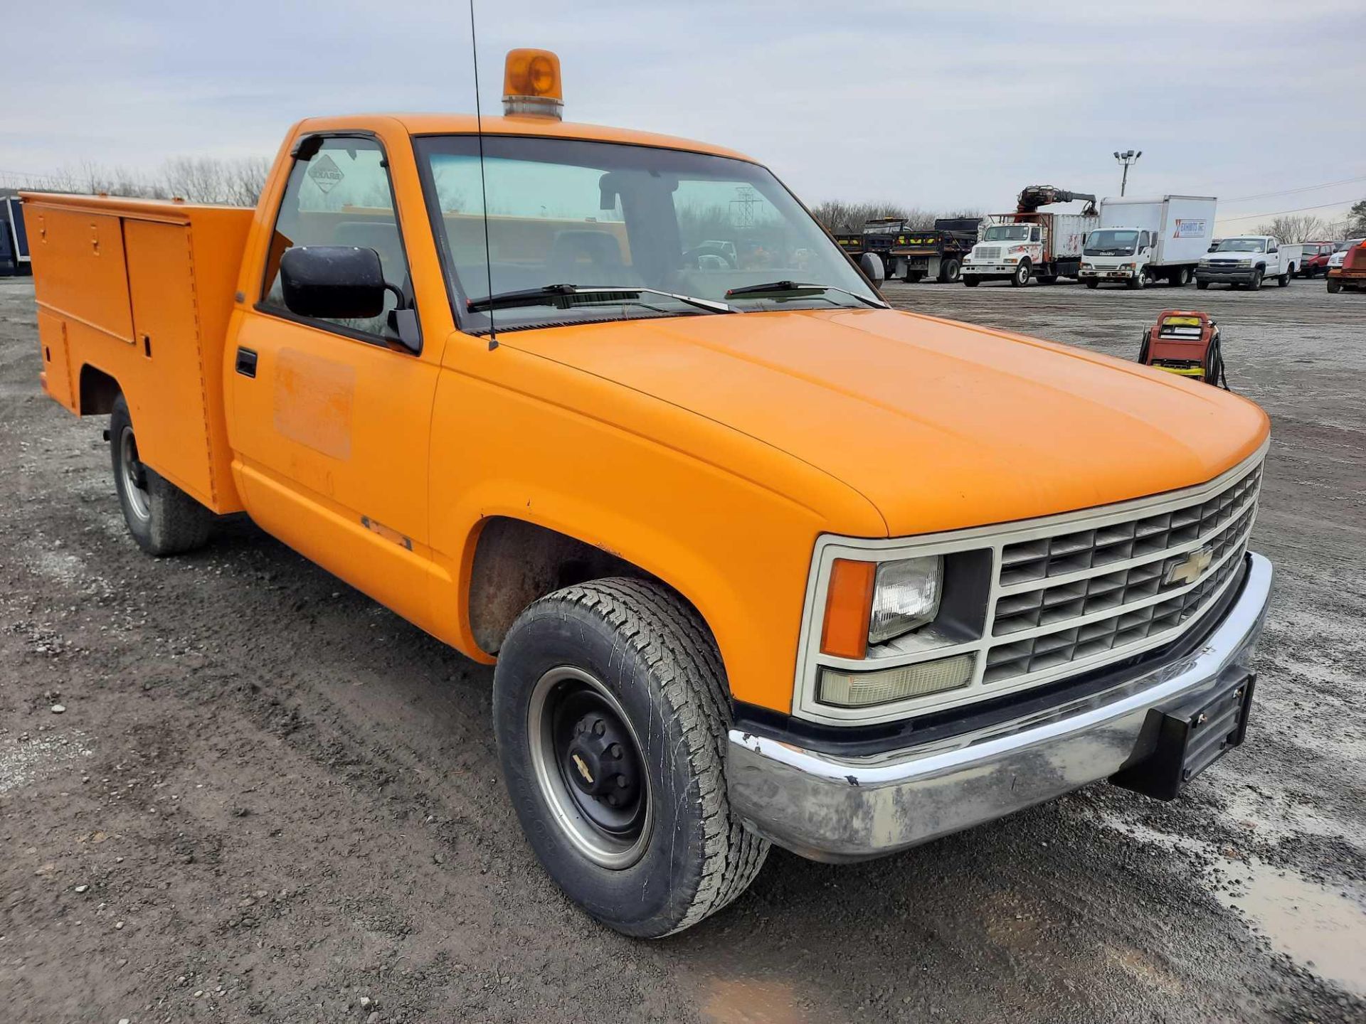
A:
[[[1143,758],[1149,710],[1186,705],[1247,673],[1270,586],[1270,563],[1249,553],[1238,598],[1186,657],[943,743],[839,758],[732,729],[731,807],[749,829],[795,853],[867,860],[1109,778]]]

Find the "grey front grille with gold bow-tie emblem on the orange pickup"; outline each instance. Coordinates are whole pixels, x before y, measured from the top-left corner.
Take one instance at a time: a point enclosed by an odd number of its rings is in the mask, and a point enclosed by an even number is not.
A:
[[[1004,545],[982,681],[1175,638],[1236,569],[1259,485],[1258,466],[1205,501]]]

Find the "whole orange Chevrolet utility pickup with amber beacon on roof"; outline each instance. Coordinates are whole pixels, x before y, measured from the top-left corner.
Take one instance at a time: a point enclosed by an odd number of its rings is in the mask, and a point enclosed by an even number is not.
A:
[[[559,120],[553,55],[507,91],[301,122],[255,210],[25,197],[44,388],[146,552],[245,511],[496,661],[526,837],[632,935],[770,842],[1171,797],[1243,740],[1259,408],[889,309],[754,160]]]

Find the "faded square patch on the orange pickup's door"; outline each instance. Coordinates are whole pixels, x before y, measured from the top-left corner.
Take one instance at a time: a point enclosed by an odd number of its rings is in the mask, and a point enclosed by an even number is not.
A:
[[[351,457],[355,367],[281,348],[275,373],[275,429],[333,459]]]

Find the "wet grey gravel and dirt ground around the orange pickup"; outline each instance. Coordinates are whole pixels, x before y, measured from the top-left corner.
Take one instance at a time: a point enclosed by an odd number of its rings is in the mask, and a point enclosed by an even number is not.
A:
[[[719,916],[622,938],[522,840],[489,669],[247,522],[139,554],[104,422],[41,396],[31,284],[0,281],[5,1019],[1366,1019],[1366,296],[887,295],[1124,358],[1168,304],[1217,315],[1274,421],[1247,745],[1169,804],[1101,784],[882,862],[775,851]]]

